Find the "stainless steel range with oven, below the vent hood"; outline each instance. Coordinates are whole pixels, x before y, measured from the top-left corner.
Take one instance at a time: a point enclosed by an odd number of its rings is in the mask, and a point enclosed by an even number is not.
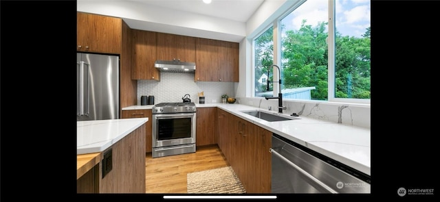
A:
[[[195,103],[158,103],[152,112],[152,157],[195,152]]]

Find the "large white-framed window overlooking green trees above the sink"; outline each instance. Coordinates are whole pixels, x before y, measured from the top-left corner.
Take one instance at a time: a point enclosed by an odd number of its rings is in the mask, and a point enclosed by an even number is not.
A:
[[[285,99],[370,103],[370,9],[364,0],[310,0],[280,16],[254,40],[256,81],[269,79],[254,96],[273,96],[267,70],[277,64]]]

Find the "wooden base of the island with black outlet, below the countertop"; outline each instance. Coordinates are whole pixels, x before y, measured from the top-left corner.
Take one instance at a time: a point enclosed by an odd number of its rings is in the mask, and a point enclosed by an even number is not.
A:
[[[145,124],[102,151],[96,166],[77,179],[77,193],[145,193]]]

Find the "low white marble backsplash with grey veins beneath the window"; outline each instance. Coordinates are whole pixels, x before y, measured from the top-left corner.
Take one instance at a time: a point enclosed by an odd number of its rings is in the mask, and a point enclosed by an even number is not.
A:
[[[278,112],[278,100],[266,100],[261,97],[238,97],[237,101],[243,105],[251,105],[256,108]],[[371,108],[368,105],[350,105],[347,103],[326,103],[320,101],[286,101],[283,105],[287,110],[283,114],[296,113],[309,118],[316,118],[323,121],[331,121],[344,125],[371,128]]]

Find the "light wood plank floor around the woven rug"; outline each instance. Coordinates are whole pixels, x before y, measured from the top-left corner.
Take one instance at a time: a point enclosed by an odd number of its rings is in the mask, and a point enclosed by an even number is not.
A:
[[[186,193],[186,174],[230,166],[217,144],[195,153],[145,159],[146,193]]]

